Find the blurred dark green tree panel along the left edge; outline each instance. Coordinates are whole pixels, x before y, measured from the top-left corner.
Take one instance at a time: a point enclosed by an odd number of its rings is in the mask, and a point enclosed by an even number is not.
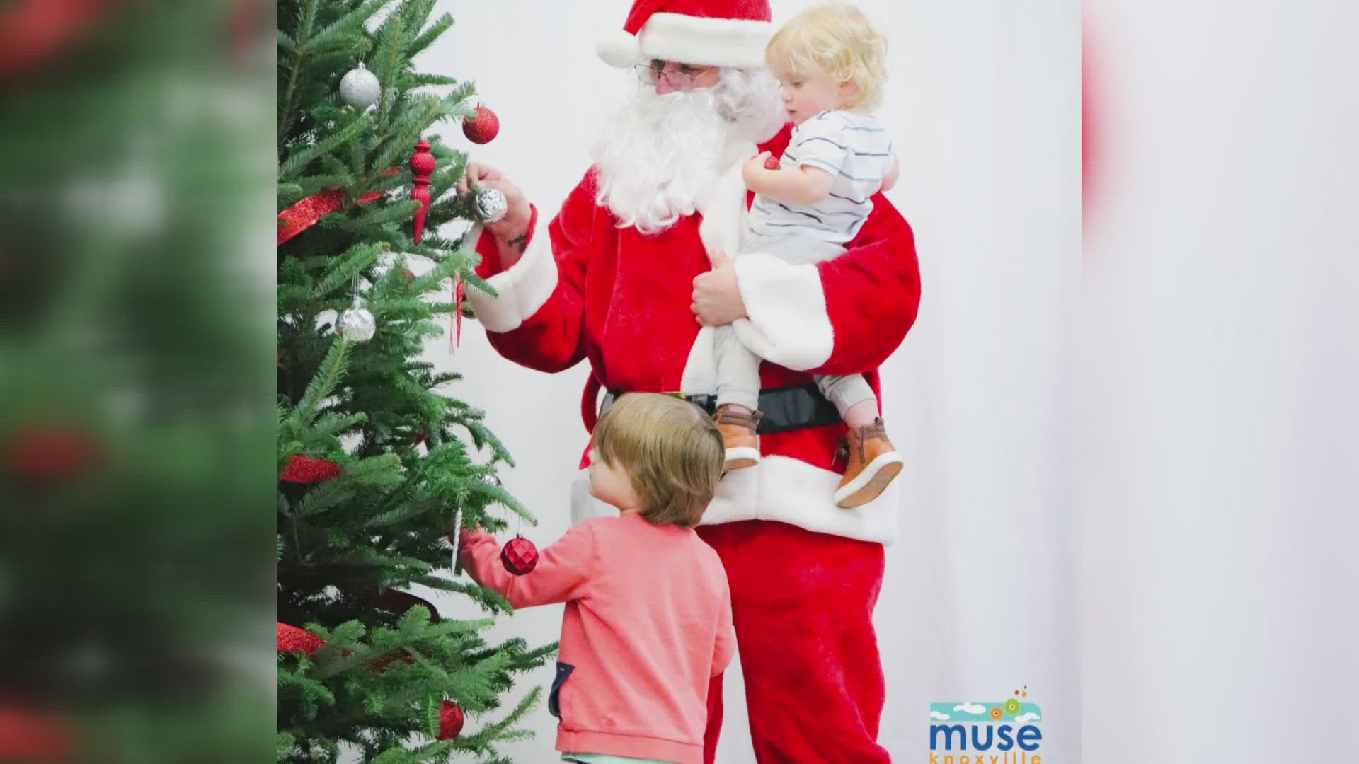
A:
[[[273,749],[270,11],[0,4],[0,760]]]

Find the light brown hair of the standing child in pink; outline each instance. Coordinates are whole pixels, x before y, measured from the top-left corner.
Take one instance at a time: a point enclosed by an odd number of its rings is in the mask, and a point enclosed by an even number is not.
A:
[[[593,442],[605,464],[628,473],[641,517],[681,527],[703,519],[727,454],[712,417],[659,393],[620,397],[599,417]]]

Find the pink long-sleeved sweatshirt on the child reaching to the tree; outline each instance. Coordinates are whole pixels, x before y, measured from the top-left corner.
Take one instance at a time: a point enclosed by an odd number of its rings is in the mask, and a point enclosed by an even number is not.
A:
[[[462,564],[515,608],[567,604],[548,699],[557,750],[703,761],[708,680],[737,638],[727,574],[699,534],[637,513],[595,518],[516,576],[493,536],[465,532]]]

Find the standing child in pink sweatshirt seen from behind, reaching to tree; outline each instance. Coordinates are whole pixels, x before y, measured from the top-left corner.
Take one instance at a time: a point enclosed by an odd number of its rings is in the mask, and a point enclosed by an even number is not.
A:
[[[565,602],[548,710],[563,760],[701,763],[708,680],[735,651],[718,553],[693,532],[726,446],[697,406],[622,396],[595,426],[590,492],[620,517],[586,521],[522,576],[491,534],[462,534],[462,561],[515,608]]]

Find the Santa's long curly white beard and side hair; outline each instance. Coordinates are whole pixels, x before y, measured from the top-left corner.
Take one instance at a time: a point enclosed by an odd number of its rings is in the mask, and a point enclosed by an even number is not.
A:
[[[773,77],[723,71],[712,88],[656,95],[640,90],[614,114],[594,147],[598,204],[618,227],[658,234],[692,215],[703,192],[746,159],[786,118]]]

